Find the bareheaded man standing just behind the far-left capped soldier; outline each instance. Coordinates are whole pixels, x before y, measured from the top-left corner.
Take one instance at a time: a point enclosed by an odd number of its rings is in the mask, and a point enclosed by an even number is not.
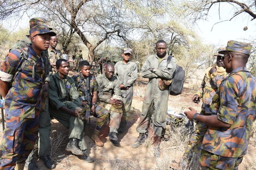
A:
[[[56,46],[58,44],[58,37],[57,36],[51,36],[50,40],[50,47],[48,48],[48,55],[49,55],[49,60],[50,64],[52,66],[52,70],[56,72],[56,61],[58,59],[61,59],[62,53],[60,52],[59,49],[56,49]]]

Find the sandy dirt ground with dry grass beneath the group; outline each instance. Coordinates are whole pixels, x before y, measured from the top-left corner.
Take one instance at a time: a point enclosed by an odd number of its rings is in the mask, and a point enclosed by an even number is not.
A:
[[[90,148],[90,156],[95,160],[93,163],[85,163],[83,160],[78,159],[75,155],[72,155],[65,151],[66,143],[68,143],[68,129],[64,128],[55,119],[52,120],[52,158],[57,163],[55,169],[158,169],[165,170],[170,169],[172,165],[173,169],[180,169],[178,162],[181,160],[181,156],[186,147],[185,140],[179,140],[179,135],[173,136],[172,140],[165,141],[161,144],[161,157],[154,158],[153,148],[150,144],[143,144],[141,147],[133,149],[131,144],[136,141],[138,133],[136,127],[139,121],[139,115],[141,114],[142,100],[147,83],[141,81],[135,86],[134,97],[132,102],[132,113],[129,115],[127,129],[123,134],[119,134],[121,147],[115,147],[109,141],[107,137],[108,128],[105,128],[101,132],[101,140],[104,142],[103,147],[97,147],[90,140],[93,129],[95,128],[95,118],[92,117],[90,122],[86,124],[86,141],[88,148]],[[189,85],[186,85],[189,86]],[[182,109],[192,106],[193,108],[200,110],[200,104],[193,104],[191,97],[195,89],[185,88],[184,92],[179,96],[169,97],[168,110],[174,110],[180,112]],[[172,133],[172,132],[171,132]],[[176,132],[173,132],[173,135]],[[1,133],[2,136],[2,133]],[[180,136],[182,138],[182,136]],[[249,144],[248,152],[242,161],[239,169],[256,169],[256,139],[254,138]],[[40,169],[47,169],[44,163],[39,160],[38,165]]]

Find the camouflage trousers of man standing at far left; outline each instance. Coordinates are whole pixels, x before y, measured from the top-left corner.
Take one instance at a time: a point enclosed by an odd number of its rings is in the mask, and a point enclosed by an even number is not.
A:
[[[38,136],[39,111],[35,118],[21,118],[7,113],[6,128],[0,145],[0,169],[14,169],[16,163],[25,163]]]

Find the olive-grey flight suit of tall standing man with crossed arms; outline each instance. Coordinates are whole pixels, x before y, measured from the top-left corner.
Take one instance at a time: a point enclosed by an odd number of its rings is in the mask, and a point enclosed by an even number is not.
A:
[[[147,91],[143,100],[142,116],[139,120],[139,125],[137,127],[138,133],[147,132],[149,120],[152,114],[151,112],[149,112],[149,110],[152,106],[155,111],[155,135],[161,136],[162,129],[166,127],[169,91],[168,89],[159,89],[159,78],[171,79],[176,69],[175,58],[173,57],[167,65],[167,57],[168,55],[164,56],[161,59],[161,62],[159,62],[160,59],[156,54],[150,55],[142,66],[142,77],[149,78],[149,84],[147,86]],[[149,68],[154,68],[154,70],[149,71]]]

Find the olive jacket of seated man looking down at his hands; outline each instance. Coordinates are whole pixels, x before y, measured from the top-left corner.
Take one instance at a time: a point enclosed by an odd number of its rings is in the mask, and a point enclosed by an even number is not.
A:
[[[117,77],[113,76],[109,80],[104,73],[96,77],[96,81],[99,87],[97,103],[108,104],[113,95],[121,96],[120,83]]]

